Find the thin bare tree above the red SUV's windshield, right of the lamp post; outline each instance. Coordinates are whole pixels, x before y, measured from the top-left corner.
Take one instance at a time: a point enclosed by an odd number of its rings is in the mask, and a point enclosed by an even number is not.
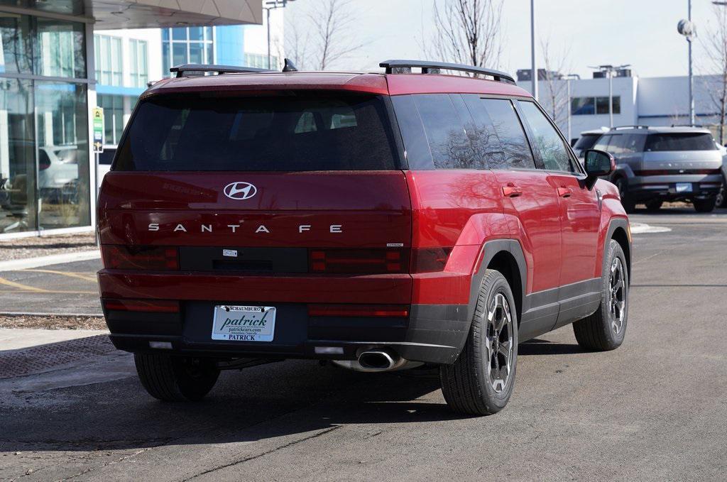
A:
[[[540,39],[540,51],[545,67],[545,102],[543,108],[550,114],[555,124],[562,127],[568,119],[571,100],[568,98],[568,84],[563,73],[569,66],[569,49],[566,47],[561,54],[553,53],[550,37]]]

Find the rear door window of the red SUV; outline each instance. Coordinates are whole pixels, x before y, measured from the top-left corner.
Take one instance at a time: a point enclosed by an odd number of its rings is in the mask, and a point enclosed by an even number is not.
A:
[[[523,126],[510,100],[481,99],[480,102],[502,147],[502,156],[490,159],[491,169],[535,169]]]

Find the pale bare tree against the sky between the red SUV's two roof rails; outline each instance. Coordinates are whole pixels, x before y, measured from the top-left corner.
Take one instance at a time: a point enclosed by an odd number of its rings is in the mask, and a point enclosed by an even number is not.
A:
[[[286,49],[298,68],[324,71],[366,45],[350,35],[356,20],[352,1],[310,1],[305,22],[291,23]]]

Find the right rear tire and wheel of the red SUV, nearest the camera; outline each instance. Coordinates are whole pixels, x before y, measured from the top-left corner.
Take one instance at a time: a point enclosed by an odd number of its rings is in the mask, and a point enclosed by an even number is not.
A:
[[[499,296],[502,295],[502,296]],[[503,302],[505,300],[506,302]],[[502,308],[497,308],[497,307]],[[489,321],[488,314],[495,308],[494,320],[503,316],[502,328],[495,337],[494,324]],[[505,312],[507,311],[507,316]],[[509,316],[509,321],[507,317]],[[508,327],[505,330],[505,326]],[[489,348],[492,343],[494,355]],[[497,342],[494,341],[497,338]],[[506,342],[511,344],[507,347]],[[497,346],[497,349],[494,347]],[[500,349],[510,353],[510,369],[507,371],[507,358]],[[502,363],[502,368],[500,363]],[[505,408],[515,387],[515,368],[518,361],[518,313],[510,285],[499,271],[486,270],[480,285],[475,315],[465,348],[459,358],[451,365],[443,365],[439,370],[442,393],[447,405],[460,414],[491,415]],[[493,363],[497,363],[493,367]],[[497,368],[496,376],[505,378],[492,379],[491,374]],[[496,389],[495,384],[499,387]]]

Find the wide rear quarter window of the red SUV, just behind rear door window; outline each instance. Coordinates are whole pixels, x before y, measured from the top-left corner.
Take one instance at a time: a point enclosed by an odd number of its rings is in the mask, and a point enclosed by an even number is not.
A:
[[[435,169],[471,169],[465,126],[447,94],[414,95]]]

